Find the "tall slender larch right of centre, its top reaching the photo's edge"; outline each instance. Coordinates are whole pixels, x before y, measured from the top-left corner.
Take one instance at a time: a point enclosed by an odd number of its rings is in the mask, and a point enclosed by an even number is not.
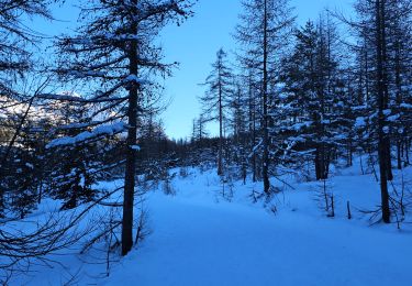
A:
[[[244,62],[256,69],[259,79],[261,102],[260,135],[263,151],[264,191],[270,193],[270,138],[269,121],[272,102],[276,98],[271,91],[278,78],[277,65],[280,53],[286,46],[287,35],[291,31],[294,18],[291,15],[289,0],[245,0],[243,13],[236,28],[235,37],[244,54]],[[256,146],[255,146],[256,147]]]

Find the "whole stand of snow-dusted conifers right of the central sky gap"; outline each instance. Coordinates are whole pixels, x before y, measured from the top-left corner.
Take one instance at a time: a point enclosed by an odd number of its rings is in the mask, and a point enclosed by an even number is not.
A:
[[[409,0],[358,0],[350,19],[324,11],[297,28],[287,0],[243,1],[234,61],[218,52],[193,141],[216,120],[218,173],[246,165],[268,196],[270,177],[325,180],[332,163],[367,155],[390,222],[403,207],[388,182],[411,155],[411,9]]]

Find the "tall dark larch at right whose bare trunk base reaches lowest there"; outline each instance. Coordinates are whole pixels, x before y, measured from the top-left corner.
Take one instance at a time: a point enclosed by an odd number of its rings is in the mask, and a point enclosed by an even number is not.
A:
[[[410,113],[407,76],[410,72],[408,64],[403,64],[411,56],[404,46],[411,30],[411,7],[410,0],[358,0],[355,3],[357,21],[346,21],[356,31],[360,43],[358,66],[363,78],[358,81],[363,86],[359,98],[364,103],[364,114],[357,118],[357,122],[364,127],[364,138],[370,141],[369,148],[378,154],[382,221],[386,223],[391,219],[388,180],[393,179],[392,142],[397,142],[400,165],[400,139],[408,141],[409,136],[409,129],[403,127]],[[408,148],[405,146],[407,154]]]

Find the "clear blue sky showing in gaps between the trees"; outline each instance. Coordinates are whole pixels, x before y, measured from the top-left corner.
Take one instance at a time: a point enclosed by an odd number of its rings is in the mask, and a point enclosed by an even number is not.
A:
[[[330,8],[348,12],[353,0],[291,0],[298,15],[298,24],[308,19],[315,20],[322,9]],[[68,32],[76,26],[78,10],[73,8],[79,1],[68,0],[64,7],[53,9],[60,22],[36,22],[34,29],[48,35]],[[165,81],[167,99],[171,99],[167,111],[162,116],[166,133],[170,138],[187,138],[191,134],[192,120],[199,116],[201,107],[198,97],[203,92],[203,82],[210,72],[210,64],[220,47],[227,52],[235,48],[233,40],[241,0],[198,0],[194,16],[181,26],[164,30],[160,43],[166,62],[179,62],[174,77]],[[215,128],[210,127],[213,133]]]

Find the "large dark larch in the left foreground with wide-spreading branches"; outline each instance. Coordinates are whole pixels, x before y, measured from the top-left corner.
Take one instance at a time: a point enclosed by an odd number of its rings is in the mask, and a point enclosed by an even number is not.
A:
[[[122,255],[133,245],[138,117],[158,75],[167,76],[172,65],[162,63],[155,38],[169,22],[181,23],[191,12],[187,0],[96,0],[82,7],[82,26],[77,35],[58,43],[66,55],[58,73],[89,84],[88,102],[98,103],[97,114],[107,112],[93,125],[126,120],[126,158],[122,218]],[[104,114],[107,114],[104,113]]]

